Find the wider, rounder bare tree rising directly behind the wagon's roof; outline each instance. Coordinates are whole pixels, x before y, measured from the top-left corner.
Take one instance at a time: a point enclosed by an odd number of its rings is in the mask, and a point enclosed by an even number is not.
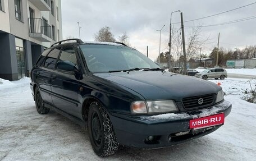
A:
[[[102,27],[97,34],[94,34],[94,39],[97,42],[116,42],[114,35],[111,33],[111,28],[108,26]]]

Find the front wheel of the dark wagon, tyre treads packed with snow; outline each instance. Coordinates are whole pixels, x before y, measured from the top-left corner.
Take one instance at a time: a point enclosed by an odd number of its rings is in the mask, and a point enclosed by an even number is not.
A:
[[[118,142],[106,109],[98,102],[90,104],[88,130],[94,152],[99,157],[115,154]]]

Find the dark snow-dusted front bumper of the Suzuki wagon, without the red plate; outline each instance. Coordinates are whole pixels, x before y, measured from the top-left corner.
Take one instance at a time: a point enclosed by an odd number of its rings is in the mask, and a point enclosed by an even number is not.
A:
[[[115,129],[117,141],[120,144],[135,148],[153,149],[180,144],[217,130],[221,125],[194,132],[189,128],[189,121],[217,113],[225,113],[226,117],[230,114],[231,108],[231,103],[224,101],[210,108],[179,114],[126,116],[112,113],[109,114],[109,117]],[[181,134],[180,132],[188,134],[178,135],[178,133]],[[148,140],[149,136],[153,136],[153,140]]]

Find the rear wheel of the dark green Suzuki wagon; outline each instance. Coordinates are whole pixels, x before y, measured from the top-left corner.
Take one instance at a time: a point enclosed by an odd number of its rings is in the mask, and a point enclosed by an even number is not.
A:
[[[42,99],[42,96],[40,94],[38,87],[35,88],[35,107],[36,107],[36,111],[39,114],[47,114],[50,111],[49,108],[44,107],[44,101]]]

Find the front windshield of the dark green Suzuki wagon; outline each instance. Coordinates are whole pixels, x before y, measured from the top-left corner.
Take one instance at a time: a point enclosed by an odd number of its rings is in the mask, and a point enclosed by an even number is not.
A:
[[[135,49],[121,45],[83,44],[80,48],[91,72],[115,72],[159,68]]]

